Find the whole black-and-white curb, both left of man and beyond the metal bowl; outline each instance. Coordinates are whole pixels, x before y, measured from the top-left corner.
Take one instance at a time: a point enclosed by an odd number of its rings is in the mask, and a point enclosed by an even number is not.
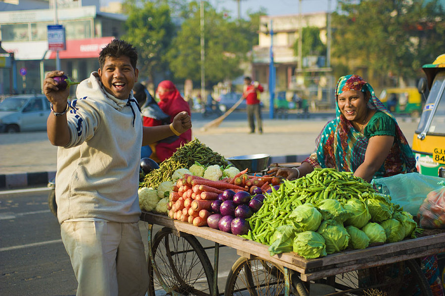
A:
[[[307,155],[283,155],[269,157],[268,164],[275,163],[298,163],[304,161]],[[55,177],[55,171],[27,172],[16,174],[1,174],[0,189],[9,189],[16,187],[28,187],[36,185],[47,185],[49,179]]]

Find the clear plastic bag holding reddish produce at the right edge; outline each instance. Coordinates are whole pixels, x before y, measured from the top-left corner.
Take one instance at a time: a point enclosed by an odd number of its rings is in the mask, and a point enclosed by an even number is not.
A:
[[[445,181],[438,185],[440,187],[428,193],[417,213],[421,228],[445,229]]]

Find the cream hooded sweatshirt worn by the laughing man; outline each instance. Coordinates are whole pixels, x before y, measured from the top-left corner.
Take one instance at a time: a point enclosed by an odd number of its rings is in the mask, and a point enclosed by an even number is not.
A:
[[[133,92],[118,99],[93,72],[77,86],[76,97],[67,113],[70,142],[57,151],[59,222],[137,222],[142,121]]]

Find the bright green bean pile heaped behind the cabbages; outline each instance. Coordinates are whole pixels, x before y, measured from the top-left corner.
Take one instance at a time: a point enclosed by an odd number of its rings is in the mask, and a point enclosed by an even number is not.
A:
[[[270,237],[277,227],[295,224],[289,215],[297,206],[306,203],[316,205],[317,201],[323,199],[336,199],[344,203],[376,193],[365,180],[351,172],[335,169],[314,169],[297,180],[284,180],[278,190],[273,187],[271,190],[271,193],[266,194],[260,210],[247,219],[251,230],[243,236],[266,245],[270,245]]]

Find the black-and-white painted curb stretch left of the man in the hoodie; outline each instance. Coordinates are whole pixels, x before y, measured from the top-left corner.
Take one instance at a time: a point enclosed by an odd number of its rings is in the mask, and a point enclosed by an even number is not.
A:
[[[27,172],[0,175],[0,189],[46,185],[55,177],[55,171]]]

